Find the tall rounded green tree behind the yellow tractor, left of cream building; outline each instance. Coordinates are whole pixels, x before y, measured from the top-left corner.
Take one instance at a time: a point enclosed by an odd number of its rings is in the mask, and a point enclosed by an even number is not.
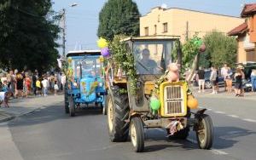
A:
[[[112,40],[114,35],[138,36],[139,11],[132,0],[108,0],[99,14],[98,37]]]

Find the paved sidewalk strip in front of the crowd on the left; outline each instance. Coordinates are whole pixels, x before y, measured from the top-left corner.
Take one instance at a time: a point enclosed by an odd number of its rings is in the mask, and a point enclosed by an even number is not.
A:
[[[44,108],[45,106],[52,106],[63,102],[63,95],[49,95],[42,97],[30,97],[24,99],[14,99],[9,101],[9,108],[0,107],[0,123],[9,121],[15,117],[20,117],[31,113],[32,111]]]

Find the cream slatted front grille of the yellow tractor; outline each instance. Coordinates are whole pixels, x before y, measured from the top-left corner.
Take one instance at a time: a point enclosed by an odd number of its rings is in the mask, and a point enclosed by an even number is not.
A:
[[[176,116],[184,113],[183,86],[166,86],[164,89],[165,115]]]

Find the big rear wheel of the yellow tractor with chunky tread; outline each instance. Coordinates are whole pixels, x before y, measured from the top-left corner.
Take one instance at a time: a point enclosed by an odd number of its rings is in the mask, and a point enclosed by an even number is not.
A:
[[[126,141],[129,135],[129,123],[125,122],[129,117],[128,94],[120,94],[119,88],[114,87],[112,94],[108,94],[107,115],[108,133],[113,142]]]

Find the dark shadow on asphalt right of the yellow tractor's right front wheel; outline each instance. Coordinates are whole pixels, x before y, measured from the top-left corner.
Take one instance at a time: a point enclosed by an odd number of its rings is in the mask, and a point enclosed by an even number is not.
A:
[[[254,131],[238,127],[215,127],[214,133],[213,147],[215,149],[230,148],[239,142],[239,137],[256,134]]]

